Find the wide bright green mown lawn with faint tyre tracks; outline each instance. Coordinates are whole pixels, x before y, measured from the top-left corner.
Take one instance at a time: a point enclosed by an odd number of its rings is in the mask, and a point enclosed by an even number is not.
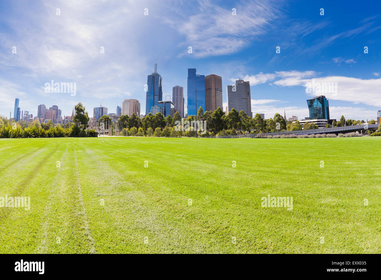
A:
[[[380,137],[0,139],[0,197],[30,197],[0,208],[0,253],[381,253],[380,156]]]

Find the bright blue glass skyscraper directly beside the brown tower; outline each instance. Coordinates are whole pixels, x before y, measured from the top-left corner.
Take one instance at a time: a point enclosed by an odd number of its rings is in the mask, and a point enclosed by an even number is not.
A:
[[[188,69],[187,99],[188,116],[197,115],[200,107],[205,112],[205,75],[196,74],[195,68]]]

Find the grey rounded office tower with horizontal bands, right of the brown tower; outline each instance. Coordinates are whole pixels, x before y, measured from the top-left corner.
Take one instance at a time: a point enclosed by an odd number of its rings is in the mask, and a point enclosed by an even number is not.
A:
[[[228,113],[234,108],[238,112],[243,110],[249,117],[251,114],[250,82],[236,80],[235,85],[226,86]]]

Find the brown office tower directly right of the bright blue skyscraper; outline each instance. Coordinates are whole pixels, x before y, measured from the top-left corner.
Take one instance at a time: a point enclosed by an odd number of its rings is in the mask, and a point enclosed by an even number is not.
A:
[[[222,107],[222,78],[218,75],[205,76],[205,111],[214,112]]]

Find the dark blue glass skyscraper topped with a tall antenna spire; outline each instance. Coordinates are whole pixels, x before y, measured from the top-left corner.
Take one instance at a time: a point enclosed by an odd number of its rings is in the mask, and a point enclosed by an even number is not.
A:
[[[155,63],[155,71],[147,77],[147,95],[146,95],[146,115],[151,112],[151,108],[157,106],[158,101],[162,101],[163,79],[157,73],[157,63]],[[140,109],[139,109],[140,110]]]

